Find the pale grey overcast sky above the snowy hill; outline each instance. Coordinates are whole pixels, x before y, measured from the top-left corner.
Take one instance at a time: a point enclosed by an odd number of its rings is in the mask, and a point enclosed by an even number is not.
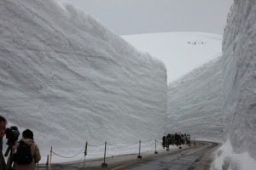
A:
[[[223,34],[233,0],[67,0],[119,35],[171,31]]]

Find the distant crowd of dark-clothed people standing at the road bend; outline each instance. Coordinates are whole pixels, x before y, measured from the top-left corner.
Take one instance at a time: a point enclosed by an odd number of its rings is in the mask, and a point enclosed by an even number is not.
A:
[[[162,146],[164,149],[169,148],[169,145],[180,146],[182,144],[190,145],[190,134],[168,133],[166,136],[163,136],[163,138],[162,138]]]

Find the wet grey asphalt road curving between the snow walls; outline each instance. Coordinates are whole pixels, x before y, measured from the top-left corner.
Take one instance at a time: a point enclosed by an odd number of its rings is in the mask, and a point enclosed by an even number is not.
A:
[[[141,153],[142,158],[137,158],[137,154],[109,157],[105,160],[73,161],[61,164],[52,164],[50,170],[91,170],[91,169],[111,169],[111,170],[150,170],[150,169],[172,169],[172,170],[207,170],[212,162],[212,152],[220,144],[215,142],[195,141],[189,145],[182,145],[169,151],[166,149],[157,150],[158,154],[147,151]],[[49,170],[49,167],[40,165],[39,169]]]

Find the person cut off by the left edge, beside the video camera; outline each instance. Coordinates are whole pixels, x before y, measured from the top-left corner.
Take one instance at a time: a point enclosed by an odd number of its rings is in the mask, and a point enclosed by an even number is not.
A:
[[[0,170],[6,170],[6,162],[3,157],[3,137],[5,135],[5,128],[6,128],[7,121],[3,116],[0,116]]]

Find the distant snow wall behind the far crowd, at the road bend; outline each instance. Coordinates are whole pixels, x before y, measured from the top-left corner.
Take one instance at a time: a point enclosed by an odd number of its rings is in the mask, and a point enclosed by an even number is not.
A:
[[[166,133],[189,133],[192,139],[222,137],[221,57],[168,85]]]

